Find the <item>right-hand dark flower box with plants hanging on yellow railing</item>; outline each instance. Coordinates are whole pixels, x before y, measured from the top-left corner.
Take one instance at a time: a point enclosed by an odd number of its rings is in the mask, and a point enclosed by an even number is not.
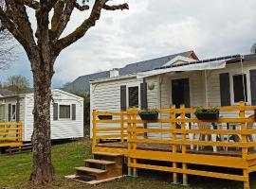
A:
[[[197,119],[200,120],[217,120],[219,118],[220,112],[219,109],[217,109],[216,107],[197,107],[194,114],[197,117]]]

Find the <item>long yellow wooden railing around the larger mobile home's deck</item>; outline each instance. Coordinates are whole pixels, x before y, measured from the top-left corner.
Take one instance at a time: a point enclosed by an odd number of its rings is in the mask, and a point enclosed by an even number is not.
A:
[[[93,112],[93,150],[97,147],[99,139],[119,139],[121,143],[127,142],[127,149],[124,154],[128,157],[128,174],[137,176],[137,168],[155,169],[174,173],[174,182],[177,182],[177,174],[183,175],[183,184],[187,184],[188,175],[198,175],[212,178],[220,178],[227,180],[244,181],[245,188],[248,188],[248,174],[256,171],[256,151],[254,147],[256,142],[248,141],[248,136],[256,134],[256,129],[247,128],[255,122],[254,116],[247,116],[254,113],[254,106],[247,106],[241,102],[237,106],[218,107],[222,116],[217,120],[202,121],[195,117],[188,118],[186,114],[195,112],[195,108],[185,108],[181,106],[176,109],[174,106],[170,109],[158,110],[162,115],[157,121],[144,121],[138,117],[139,110],[128,109],[127,112]],[[231,113],[230,113],[231,112]],[[176,115],[179,118],[176,118]],[[99,120],[98,115],[112,115],[111,120]],[[164,118],[163,118],[164,117]],[[198,129],[192,127],[187,128],[186,124],[191,123],[192,126],[200,123],[215,123],[220,125],[235,124],[239,129]],[[99,125],[105,124],[99,128]],[[108,125],[116,124],[116,127],[109,128]],[[144,127],[145,124],[147,128]],[[150,126],[158,124],[159,126]],[[180,129],[176,125],[181,126]],[[164,126],[163,126],[164,125]],[[155,129],[157,127],[157,129]],[[109,133],[110,132],[110,133]],[[107,134],[109,133],[109,134]],[[153,139],[146,137],[145,133],[167,134],[168,137],[158,137]],[[202,141],[188,137],[193,135],[220,135],[230,136],[236,135],[238,141]],[[143,150],[139,148],[139,144],[163,144],[170,147],[169,151]],[[198,153],[198,150],[190,150],[190,146],[198,148],[198,146],[218,146],[222,147],[222,151],[229,152],[229,148],[234,148],[236,154],[223,153],[213,151],[210,154]],[[252,149],[251,149],[252,148]],[[172,167],[137,163],[137,160],[155,160],[173,163]],[[181,165],[178,166],[178,163]],[[201,164],[210,166],[223,166],[235,169],[242,169],[242,175],[218,173],[202,170],[189,169],[187,164]]]

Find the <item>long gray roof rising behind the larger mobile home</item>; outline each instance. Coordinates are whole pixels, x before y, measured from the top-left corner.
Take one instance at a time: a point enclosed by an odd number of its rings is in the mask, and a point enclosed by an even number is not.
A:
[[[131,64],[124,66],[123,68],[120,68],[119,75],[124,76],[124,75],[129,75],[129,74],[136,74],[138,72],[154,70],[155,68],[164,65],[168,61],[173,60],[176,56],[189,57],[192,53],[193,53],[193,51],[186,51],[186,52],[177,53],[174,55],[160,57],[160,58],[153,59],[153,60],[144,60],[144,61],[139,61],[136,63],[131,63]],[[110,77],[109,71],[104,71],[104,72],[100,72],[100,73],[95,73],[95,74],[78,77],[73,82],[68,84],[63,90],[64,91],[82,91],[85,93],[89,93],[89,91],[90,91],[89,81],[96,80],[99,78],[107,78],[107,77]]]

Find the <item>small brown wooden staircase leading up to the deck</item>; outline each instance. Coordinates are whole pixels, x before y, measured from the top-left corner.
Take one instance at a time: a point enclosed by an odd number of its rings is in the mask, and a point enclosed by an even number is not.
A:
[[[76,175],[66,178],[97,184],[122,177],[123,155],[95,152],[94,159],[84,160],[84,166],[76,167]]]

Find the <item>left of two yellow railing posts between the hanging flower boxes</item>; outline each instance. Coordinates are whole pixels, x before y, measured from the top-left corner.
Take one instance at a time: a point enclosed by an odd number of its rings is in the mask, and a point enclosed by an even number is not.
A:
[[[176,118],[175,106],[172,106],[172,107],[171,107],[170,118],[171,118],[172,120],[174,120],[174,119]],[[171,125],[172,125],[172,129],[176,130],[176,122],[172,122]],[[173,138],[172,140],[173,140],[174,142],[176,142],[177,137],[176,137],[176,133],[175,133],[175,132],[173,133],[172,138]],[[172,147],[173,147],[173,153],[175,154],[176,151],[177,151],[177,146],[174,144]],[[174,167],[174,168],[177,168],[177,163],[173,163],[173,167]],[[174,184],[177,184],[177,183],[178,183],[177,173],[175,173],[175,172],[174,172],[174,174],[173,174],[173,183],[174,183]]]

